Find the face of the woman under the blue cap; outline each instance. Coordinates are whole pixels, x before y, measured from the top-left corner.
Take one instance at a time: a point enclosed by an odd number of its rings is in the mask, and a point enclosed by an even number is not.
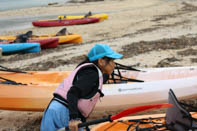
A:
[[[114,68],[115,68],[115,63],[114,63],[114,59],[110,59],[110,61],[106,60],[106,59],[100,59],[98,61],[99,63],[99,67],[101,68],[102,73],[106,73],[108,75],[111,75]]]

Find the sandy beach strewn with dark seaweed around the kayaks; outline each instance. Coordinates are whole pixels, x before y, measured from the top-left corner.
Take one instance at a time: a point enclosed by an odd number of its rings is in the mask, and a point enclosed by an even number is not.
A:
[[[1,19],[23,18],[29,26],[5,30],[0,35],[29,30],[35,35],[57,33],[63,27],[33,27],[30,20],[88,11],[107,13],[109,17],[95,24],[68,26],[69,32],[82,35],[81,44],[61,45],[36,54],[4,55],[0,64],[26,71],[73,70],[94,44],[106,43],[124,54],[116,62],[136,68],[197,66],[197,1],[194,0],[103,0],[2,11]],[[41,117],[42,112],[1,110],[0,131],[37,131]],[[90,119],[97,117],[100,116]]]

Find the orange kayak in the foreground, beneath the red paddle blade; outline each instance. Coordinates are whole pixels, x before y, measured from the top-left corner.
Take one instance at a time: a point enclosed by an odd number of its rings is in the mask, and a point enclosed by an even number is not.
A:
[[[197,113],[193,113],[192,117],[197,118]],[[144,120],[142,120],[144,119]],[[141,123],[139,123],[139,120]],[[154,124],[152,123],[155,122]],[[144,122],[144,123],[143,123]],[[165,114],[152,115],[138,115],[123,117],[113,122],[105,122],[96,125],[91,131],[129,131],[138,129],[151,128],[153,126],[161,126],[165,123]],[[167,130],[165,127],[158,128],[158,130]]]

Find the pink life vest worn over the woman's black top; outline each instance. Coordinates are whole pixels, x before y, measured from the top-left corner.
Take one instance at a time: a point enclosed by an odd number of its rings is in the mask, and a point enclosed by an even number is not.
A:
[[[69,89],[72,87],[73,85],[73,80],[75,78],[75,75],[77,74],[77,72],[85,66],[89,66],[89,65],[93,65],[97,68],[98,70],[98,74],[99,74],[99,87],[98,90],[102,90],[102,85],[103,85],[103,75],[100,71],[100,69],[92,64],[92,63],[86,63],[86,64],[82,64],[79,67],[77,67],[56,89],[56,91],[54,92],[55,94],[60,95],[61,97],[63,97],[65,100],[67,100],[67,93],[69,91]],[[88,117],[89,114],[92,112],[92,110],[94,109],[96,102],[98,101],[98,99],[100,98],[100,93],[97,92],[92,98],[90,99],[79,99],[78,100],[78,109],[81,112],[81,114],[84,117]]]

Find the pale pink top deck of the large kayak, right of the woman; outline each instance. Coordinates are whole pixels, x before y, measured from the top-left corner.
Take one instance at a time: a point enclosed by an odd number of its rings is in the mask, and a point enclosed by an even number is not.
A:
[[[122,76],[144,81],[158,81],[197,76],[197,66],[144,68],[142,71],[121,71]]]

